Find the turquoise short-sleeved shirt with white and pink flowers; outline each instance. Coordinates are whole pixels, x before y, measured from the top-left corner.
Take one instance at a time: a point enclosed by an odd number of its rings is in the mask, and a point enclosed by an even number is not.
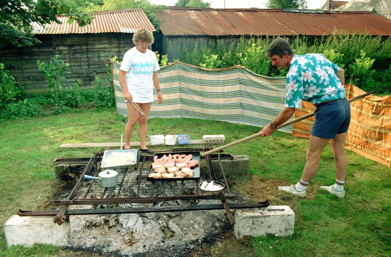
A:
[[[294,55],[287,74],[285,107],[301,107],[302,100],[319,104],[346,98],[338,71],[339,66],[323,54]]]

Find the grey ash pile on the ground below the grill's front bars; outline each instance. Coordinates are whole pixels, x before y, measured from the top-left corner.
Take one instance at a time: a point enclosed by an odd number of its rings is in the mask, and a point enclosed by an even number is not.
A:
[[[198,203],[219,203],[198,200]],[[170,201],[158,204],[123,204],[119,207],[152,207],[192,204]],[[194,203],[193,203],[194,204]],[[79,205],[79,208],[88,206]],[[120,256],[188,256],[203,239],[231,227],[223,210],[151,212],[139,214],[70,216],[70,247]]]

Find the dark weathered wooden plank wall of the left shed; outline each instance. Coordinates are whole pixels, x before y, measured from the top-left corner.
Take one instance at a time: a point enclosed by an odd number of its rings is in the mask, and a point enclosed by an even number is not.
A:
[[[36,35],[42,41],[39,45],[0,48],[0,62],[28,93],[49,89],[37,68],[37,60],[49,62],[57,54],[63,55],[59,59],[69,63],[68,71],[71,72],[62,86],[72,86],[77,79],[83,80],[81,87],[95,86],[96,75],[108,86],[106,63],[114,55],[122,61],[125,52],[134,46],[132,36],[132,33]]]

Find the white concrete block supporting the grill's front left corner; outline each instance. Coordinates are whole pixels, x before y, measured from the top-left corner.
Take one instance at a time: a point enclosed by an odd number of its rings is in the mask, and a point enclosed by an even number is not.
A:
[[[11,216],[3,226],[7,247],[12,245],[31,247],[34,244],[68,245],[71,235],[69,218],[61,226],[54,223],[53,218],[54,216]]]

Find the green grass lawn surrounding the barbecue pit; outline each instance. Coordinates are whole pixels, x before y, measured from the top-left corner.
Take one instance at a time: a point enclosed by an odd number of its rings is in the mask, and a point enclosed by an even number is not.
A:
[[[2,121],[0,223],[4,224],[16,208],[45,208],[56,186],[53,159],[91,157],[93,151],[104,150],[59,150],[57,146],[119,142],[125,121],[114,110]],[[200,139],[204,134],[224,134],[227,143],[260,130],[246,125],[185,118],[154,118],[148,121],[148,127],[148,134],[189,134],[191,139]],[[137,133],[131,141],[139,141]],[[211,246],[216,252],[213,256],[227,256],[228,253],[230,257],[391,256],[390,169],[346,150],[346,198],[338,199],[318,190],[319,186],[331,185],[335,180],[334,158],[328,145],[322,154],[319,171],[308,186],[307,198],[279,192],[277,186],[290,185],[300,179],[307,146],[308,139],[277,131],[271,137],[258,137],[225,150],[226,153],[248,154],[251,159],[252,176],[231,181],[235,182],[233,190],[251,195],[253,201],[269,198],[273,205],[291,206],[296,213],[295,229],[291,237],[257,237],[242,241],[244,243],[237,243],[232,236],[224,237],[220,246]],[[165,146],[153,149],[161,148]],[[3,232],[0,237],[0,256],[75,256],[69,250],[49,246],[6,249]],[[87,255],[77,253],[76,256]]]

